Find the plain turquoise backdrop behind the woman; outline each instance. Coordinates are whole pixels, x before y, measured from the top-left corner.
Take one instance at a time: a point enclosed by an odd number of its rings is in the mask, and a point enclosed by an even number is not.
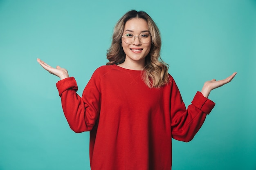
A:
[[[256,170],[256,0],[0,0],[0,170],[90,169],[89,132],[70,130],[58,77],[36,58],[67,68],[81,95],[131,9],[159,26],[186,106],[205,81],[238,72],[211,92],[195,138],[173,140],[173,170]]]

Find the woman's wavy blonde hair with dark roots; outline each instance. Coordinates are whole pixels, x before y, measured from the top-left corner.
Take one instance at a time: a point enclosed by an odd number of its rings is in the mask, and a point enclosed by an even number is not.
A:
[[[169,81],[168,67],[160,57],[161,37],[155,22],[144,11],[128,11],[117,22],[114,28],[112,43],[107,51],[107,65],[121,64],[124,62],[126,54],[122,48],[121,36],[124,32],[126,22],[132,18],[142,18],[148,23],[148,29],[152,35],[150,52],[145,58],[145,68],[142,78],[150,88],[159,88]]]

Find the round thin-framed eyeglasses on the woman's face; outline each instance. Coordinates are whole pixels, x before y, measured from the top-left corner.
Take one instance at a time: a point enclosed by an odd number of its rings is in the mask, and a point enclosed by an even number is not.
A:
[[[132,42],[135,41],[135,38],[138,37],[139,38],[139,41],[141,43],[148,43],[150,40],[151,40],[151,36],[149,33],[141,33],[137,36],[134,36],[133,34],[131,33],[127,33],[125,35],[122,36],[122,38],[124,39],[124,42],[126,44],[132,44]]]

